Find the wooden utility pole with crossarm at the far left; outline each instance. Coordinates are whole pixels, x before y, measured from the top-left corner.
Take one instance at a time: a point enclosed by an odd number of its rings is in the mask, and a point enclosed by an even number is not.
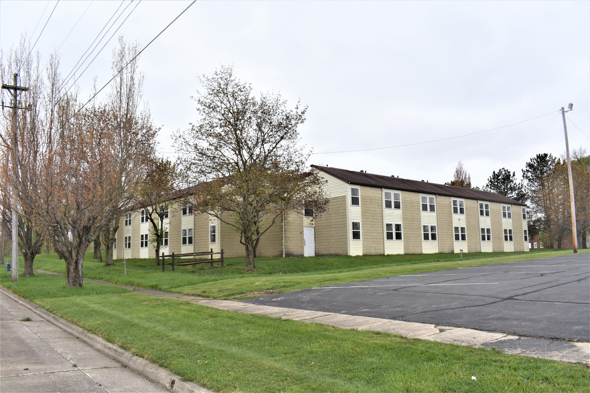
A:
[[[18,131],[17,131],[17,110],[24,109],[18,107],[19,92],[29,90],[28,87],[18,85],[18,74],[12,74],[13,85],[2,84],[2,88],[8,90],[12,95],[11,105],[4,105],[2,102],[2,109],[4,107],[12,108],[12,169],[14,170],[15,182],[19,179],[18,173]],[[18,195],[15,187],[12,187],[12,253],[10,260],[12,262],[11,279],[18,281]]]

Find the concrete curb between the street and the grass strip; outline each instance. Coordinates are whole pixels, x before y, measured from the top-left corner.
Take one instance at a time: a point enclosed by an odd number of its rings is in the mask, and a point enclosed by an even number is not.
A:
[[[195,384],[194,382],[183,381],[180,375],[176,375],[168,369],[153,364],[140,356],[133,355],[131,352],[120,348],[120,346],[111,344],[105,339],[85,331],[80,328],[80,326],[65,321],[65,319],[48,312],[44,308],[35,305],[28,300],[22,299],[19,296],[14,295],[14,293],[8,292],[4,287],[0,287],[0,292],[4,293],[4,295],[12,300],[15,300],[15,302],[30,309],[32,312],[42,316],[42,318],[47,319],[47,321],[50,321],[55,326],[64,329],[64,331],[76,336],[76,338],[81,339],[110,358],[113,358],[123,366],[139,372],[139,374],[162,385],[166,389],[178,393],[213,393],[211,390]]]

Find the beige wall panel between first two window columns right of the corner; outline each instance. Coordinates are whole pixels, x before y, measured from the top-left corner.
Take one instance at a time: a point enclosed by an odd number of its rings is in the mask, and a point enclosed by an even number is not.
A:
[[[361,229],[363,255],[382,255],[383,201],[381,189],[360,186]]]

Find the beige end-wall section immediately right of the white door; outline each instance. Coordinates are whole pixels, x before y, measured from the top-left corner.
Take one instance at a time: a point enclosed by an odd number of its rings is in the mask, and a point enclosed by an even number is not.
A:
[[[348,197],[329,199],[327,210],[316,218],[316,255],[348,255]]]

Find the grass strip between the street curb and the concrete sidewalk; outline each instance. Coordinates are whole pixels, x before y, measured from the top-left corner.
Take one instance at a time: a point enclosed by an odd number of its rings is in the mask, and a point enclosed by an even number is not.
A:
[[[223,311],[96,283],[67,289],[65,278],[42,273],[11,282],[2,272],[0,284],[133,354],[220,392],[589,389],[590,373],[581,365]]]

